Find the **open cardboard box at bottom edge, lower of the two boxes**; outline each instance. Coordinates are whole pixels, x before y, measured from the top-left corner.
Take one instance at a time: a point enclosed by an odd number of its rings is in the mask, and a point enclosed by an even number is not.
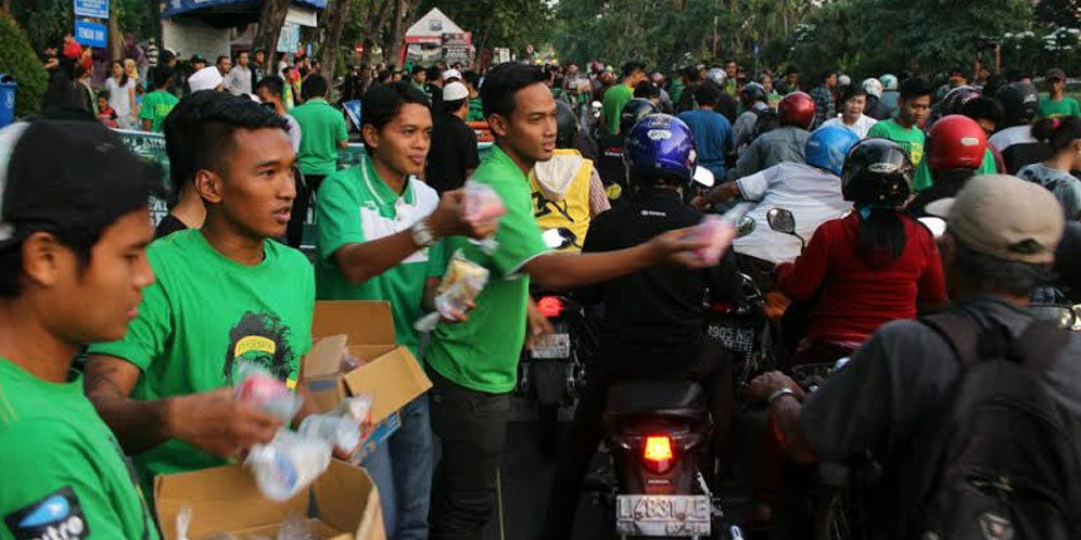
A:
[[[177,540],[177,515],[191,509],[188,538],[216,533],[274,538],[290,516],[308,518],[319,540],[385,540],[379,494],[364,470],[341,461],[308,489],[285,502],[259,492],[252,474],[241,465],[224,465],[154,479],[154,502],[165,540]],[[310,507],[314,505],[314,509]]]

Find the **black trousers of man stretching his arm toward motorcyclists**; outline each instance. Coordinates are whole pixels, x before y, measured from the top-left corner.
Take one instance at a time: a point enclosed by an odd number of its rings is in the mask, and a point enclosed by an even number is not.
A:
[[[510,394],[472,390],[434,370],[428,375],[432,430],[443,449],[432,479],[430,538],[482,540],[494,510]]]

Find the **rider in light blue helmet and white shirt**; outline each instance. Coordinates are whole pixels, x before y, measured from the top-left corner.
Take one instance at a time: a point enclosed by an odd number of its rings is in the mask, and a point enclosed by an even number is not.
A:
[[[758,205],[747,213],[747,217],[756,223],[754,231],[736,239],[733,249],[766,261],[771,268],[793,260],[800,254],[800,241],[766,226],[766,213],[778,207],[791,210],[796,232],[811,237],[822,222],[849,211],[852,204],[841,195],[840,173],[844,155],[859,141],[860,137],[844,128],[819,128],[807,139],[805,163],[779,163],[721,185],[694,203],[704,207],[736,197],[756,202]]]

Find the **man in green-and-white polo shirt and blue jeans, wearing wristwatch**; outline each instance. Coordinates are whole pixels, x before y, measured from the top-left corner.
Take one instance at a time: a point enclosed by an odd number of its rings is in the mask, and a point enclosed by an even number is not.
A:
[[[441,239],[484,237],[495,223],[469,227],[461,218],[461,192],[446,193],[441,203],[417,178],[432,130],[423,92],[400,81],[377,86],[365,94],[363,108],[366,156],[319,189],[317,297],[389,301],[397,343],[420,358],[414,323],[431,310],[444,271]],[[363,465],[383,494],[387,536],[427,538],[434,459],[428,396],[406,404],[400,421]]]

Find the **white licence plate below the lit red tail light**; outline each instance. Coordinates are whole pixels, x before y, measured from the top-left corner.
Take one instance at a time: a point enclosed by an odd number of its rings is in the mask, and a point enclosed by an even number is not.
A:
[[[626,536],[710,536],[707,496],[621,494],[615,498],[615,530]]]

